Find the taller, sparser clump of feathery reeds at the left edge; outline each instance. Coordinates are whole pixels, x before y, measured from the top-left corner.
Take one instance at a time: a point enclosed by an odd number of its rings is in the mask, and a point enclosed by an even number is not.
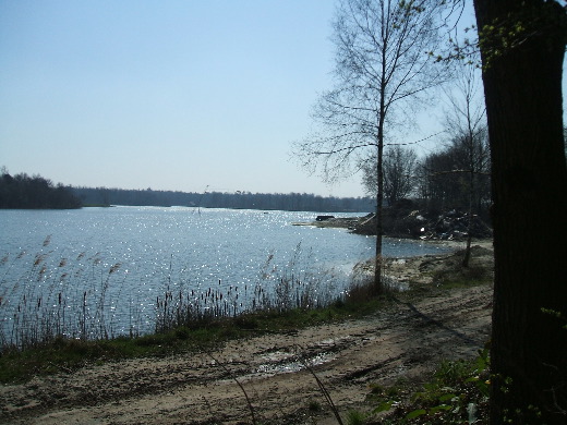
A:
[[[120,263],[108,267],[98,253],[81,253],[74,260],[55,258],[49,243],[48,236],[41,252],[5,255],[0,262],[1,351],[33,348],[60,337],[116,336],[107,292]]]

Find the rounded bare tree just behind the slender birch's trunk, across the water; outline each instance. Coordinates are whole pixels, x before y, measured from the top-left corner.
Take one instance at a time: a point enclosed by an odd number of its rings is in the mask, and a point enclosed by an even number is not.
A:
[[[388,205],[407,198],[414,192],[415,149],[394,145],[385,149],[383,158],[384,197]],[[376,157],[372,156],[362,165],[362,183],[369,196],[376,197],[377,173]]]

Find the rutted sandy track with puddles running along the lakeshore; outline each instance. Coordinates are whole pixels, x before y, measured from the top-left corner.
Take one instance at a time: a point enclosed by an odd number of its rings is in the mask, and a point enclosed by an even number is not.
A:
[[[476,254],[473,262],[490,260],[490,250]],[[248,396],[257,423],[336,424],[305,362],[345,416],[372,408],[371,384],[418,386],[443,359],[484,345],[492,288],[435,289],[451,258],[390,262],[391,277],[423,290],[363,319],[231,341],[212,356],[131,360],[2,386],[0,423],[244,424],[253,423]]]

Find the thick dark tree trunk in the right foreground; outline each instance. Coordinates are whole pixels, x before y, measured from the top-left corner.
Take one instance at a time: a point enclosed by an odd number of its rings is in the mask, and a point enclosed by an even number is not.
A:
[[[481,32],[496,25],[508,35],[519,20],[528,26],[517,46],[496,57],[497,40],[481,33],[494,202],[491,423],[565,424],[567,329],[542,312],[567,316],[565,11],[543,0],[474,0],[474,7]]]

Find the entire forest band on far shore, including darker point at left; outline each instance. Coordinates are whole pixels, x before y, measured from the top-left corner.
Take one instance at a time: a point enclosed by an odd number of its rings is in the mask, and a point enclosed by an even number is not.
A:
[[[11,175],[5,168],[0,172],[0,208],[3,209],[72,209],[111,205],[323,212],[371,212],[375,210],[375,201],[370,197],[324,197],[306,193],[186,193],[150,189],[74,187],[61,183],[53,184],[51,180],[39,174]]]

